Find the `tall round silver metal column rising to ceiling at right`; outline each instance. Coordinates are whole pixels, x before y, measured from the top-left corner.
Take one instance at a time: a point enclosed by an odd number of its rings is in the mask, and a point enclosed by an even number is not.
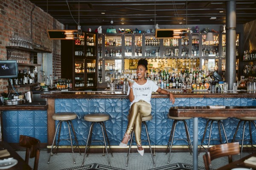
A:
[[[233,89],[236,82],[236,1],[226,2],[226,82]]]

